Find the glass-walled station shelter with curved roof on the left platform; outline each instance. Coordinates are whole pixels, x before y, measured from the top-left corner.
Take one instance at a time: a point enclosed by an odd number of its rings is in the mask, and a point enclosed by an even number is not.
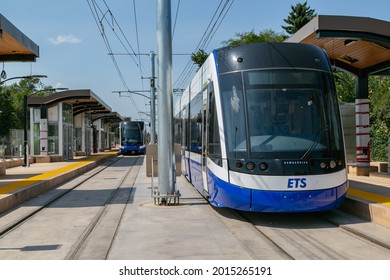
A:
[[[121,117],[89,89],[27,99],[29,154],[37,162],[64,161],[112,148],[113,123]]]

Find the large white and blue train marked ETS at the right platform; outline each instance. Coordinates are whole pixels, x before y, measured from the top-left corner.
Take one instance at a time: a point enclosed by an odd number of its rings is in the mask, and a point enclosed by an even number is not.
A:
[[[214,206],[323,211],[346,195],[340,111],[321,48],[214,50],[176,102],[174,118],[182,172]]]

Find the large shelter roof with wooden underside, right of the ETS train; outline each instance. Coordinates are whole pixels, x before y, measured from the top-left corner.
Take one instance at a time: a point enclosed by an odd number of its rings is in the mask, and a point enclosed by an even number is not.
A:
[[[286,42],[323,48],[336,67],[355,75],[390,74],[390,22],[319,15]]]

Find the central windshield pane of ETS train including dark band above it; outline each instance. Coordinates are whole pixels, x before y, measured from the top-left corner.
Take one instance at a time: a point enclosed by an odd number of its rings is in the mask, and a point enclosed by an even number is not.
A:
[[[328,130],[320,74],[305,70],[244,74],[252,152],[327,148]]]

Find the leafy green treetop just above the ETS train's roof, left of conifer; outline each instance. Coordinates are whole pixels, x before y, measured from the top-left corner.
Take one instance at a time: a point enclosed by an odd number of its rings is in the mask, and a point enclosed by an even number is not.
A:
[[[265,29],[256,34],[254,30],[249,32],[236,33],[236,38],[230,38],[227,41],[223,41],[225,46],[236,46],[251,43],[261,42],[283,42],[287,39],[287,36],[282,33],[277,33],[271,29]]]

